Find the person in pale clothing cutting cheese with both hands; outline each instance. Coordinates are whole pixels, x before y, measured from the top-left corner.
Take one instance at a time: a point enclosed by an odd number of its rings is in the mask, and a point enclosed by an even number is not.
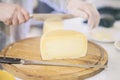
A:
[[[18,4],[21,3],[19,2],[21,0],[3,0],[3,1],[8,1],[8,2],[13,1],[13,3],[18,2]],[[30,2],[32,1],[33,0],[22,0],[22,3],[24,3],[22,5],[26,5],[25,7],[29,6],[30,8],[27,8],[27,10],[29,9],[29,12],[31,13],[32,13],[32,8],[31,8],[32,3]],[[96,27],[99,23],[99,13],[97,12],[96,8],[92,4],[87,3],[85,1],[81,1],[81,0],[41,0],[41,1],[44,2],[50,1],[56,5],[60,4],[60,7],[64,8],[66,12],[74,16],[80,16],[85,19],[88,19],[88,24],[92,28]],[[28,2],[29,5],[27,5]],[[65,6],[63,4],[65,4]],[[2,16],[0,20],[7,25],[18,25],[30,19],[29,15],[31,13],[28,13],[25,9],[21,8],[16,4],[1,3],[0,10],[1,10],[0,16]],[[60,10],[60,8],[58,8],[58,10]],[[7,14],[8,11],[9,14]],[[20,26],[21,27],[15,27],[15,30],[13,31],[16,40],[26,38],[26,35],[28,34],[30,27],[30,25],[26,26],[23,24]]]

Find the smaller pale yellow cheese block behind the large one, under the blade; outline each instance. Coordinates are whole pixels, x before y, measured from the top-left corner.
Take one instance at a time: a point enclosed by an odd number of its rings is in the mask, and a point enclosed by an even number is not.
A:
[[[54,30],[62,30],[63,22],[61,18],[49,18],[44,22],[43,34],[54,31]]]

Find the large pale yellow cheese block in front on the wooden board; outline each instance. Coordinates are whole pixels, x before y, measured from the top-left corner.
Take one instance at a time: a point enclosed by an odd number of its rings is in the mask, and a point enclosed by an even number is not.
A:
[[[74,59],[87,52],[87,38],[72,30],[55,30],[41,37],[41,56],[43,60]]]

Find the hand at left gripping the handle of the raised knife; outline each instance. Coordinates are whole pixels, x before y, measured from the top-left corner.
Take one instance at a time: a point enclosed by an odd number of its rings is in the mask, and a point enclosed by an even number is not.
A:
[[[19,5],[0,3],[0,21],[6,25],[18,25],[28,19],[28,12]]]

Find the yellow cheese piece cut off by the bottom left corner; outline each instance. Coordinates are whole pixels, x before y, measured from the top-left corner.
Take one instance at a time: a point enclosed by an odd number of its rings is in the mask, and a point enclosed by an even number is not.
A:
[[[0,80],[15,80],[15,78],[8,72],[0,70]]]

